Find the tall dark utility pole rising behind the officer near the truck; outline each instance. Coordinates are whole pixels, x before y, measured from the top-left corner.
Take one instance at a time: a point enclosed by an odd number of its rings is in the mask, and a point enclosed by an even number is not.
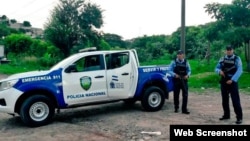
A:
[[[186,54],[185,50],[185,0],[181,0],[181,50]]]

